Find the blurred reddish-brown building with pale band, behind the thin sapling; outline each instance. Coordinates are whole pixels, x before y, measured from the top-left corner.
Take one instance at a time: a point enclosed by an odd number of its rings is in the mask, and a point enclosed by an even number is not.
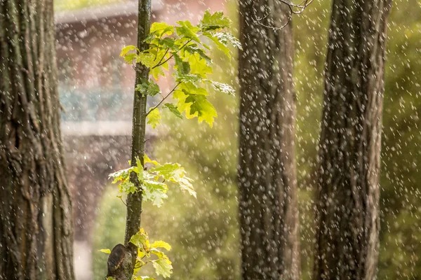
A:
[[[205,10],[222,10],[224,2],[152,0],[152,20],[198,22]],[[55,14],[62,132],[74,196],[78,280],[93,278],[95,211],[109,183],[108,174],[126,167],[130,158],[135,73],[131,65],[123,63],[119,52],[124,45],[135,45],[137,16],[137,1]],[[160,82],[163,92],[171,86],[168,83]],[[150,130],[147,134],[153,140]],[[151,141],[147,149],[151,149]]]

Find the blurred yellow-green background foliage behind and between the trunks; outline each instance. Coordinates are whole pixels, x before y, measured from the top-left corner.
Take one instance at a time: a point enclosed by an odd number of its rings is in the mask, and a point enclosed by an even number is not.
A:
[[[233,1],[227,5],[236,20]],[[295,85],[298,97],[297,162],[300,186],[302,279],[312,270],[314,219],[312,198],[323,96],[323,67],[330,1],[314,1],[295,27]],[[421,5],[394,1],[389,17],[383,113],[381,235],[378,279],[421,279]],[[237,85],[236,61],[222,59],[215,80]],[[236,204],[238,97],[213,94],[218,119],[212,129],[192,120],[168,116],[153,157],[180,162],[195,180],[197,200],[172,192],[152,213],[146,205],[142,225],[152,239],[169,241],[173,279],[239,279]],[[100,248],[121,242],[124,205],[115,190],[103,197],[98,211],[95,250],[97,279],[105,274]],[[113,228],[115,230],[104,230]]]

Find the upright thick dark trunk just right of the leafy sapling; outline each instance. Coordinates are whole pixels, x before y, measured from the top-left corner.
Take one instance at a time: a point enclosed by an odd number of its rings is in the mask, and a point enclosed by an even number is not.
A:
[[[288,6],[239,5],[241,276],[300,279],[292,25],[272,28],[286,23]]]

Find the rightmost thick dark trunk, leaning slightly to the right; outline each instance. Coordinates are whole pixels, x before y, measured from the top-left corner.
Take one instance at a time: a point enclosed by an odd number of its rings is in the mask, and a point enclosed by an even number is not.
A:
[[[319,144],[314,279],[375,279],[391,0],[334,0]]]

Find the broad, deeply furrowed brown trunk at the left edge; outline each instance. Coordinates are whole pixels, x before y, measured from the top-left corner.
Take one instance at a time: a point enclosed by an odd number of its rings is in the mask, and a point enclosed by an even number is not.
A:
[[[74,279],[53,1],[0,0],[0,279]]]

